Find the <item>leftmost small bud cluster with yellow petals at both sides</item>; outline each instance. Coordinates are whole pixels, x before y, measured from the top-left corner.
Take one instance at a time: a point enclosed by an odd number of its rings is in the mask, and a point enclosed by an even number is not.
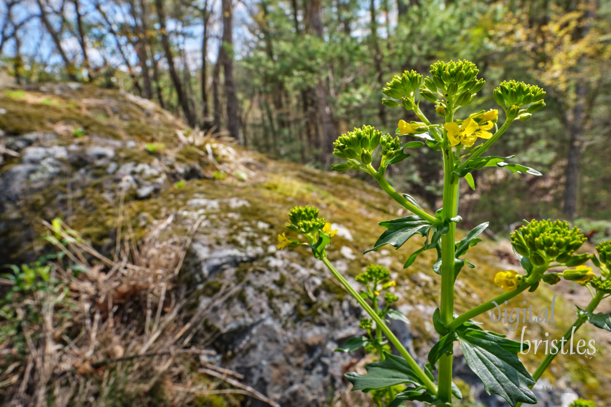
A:
[[[276,245],[279,250],[287,247],[296,248],[301,244],[311,246],[319,240],[321,234],[331,238],[337,233],[337,230],[331,230],[331,224],[326,222],[324,218],[318,218],[318,208],[316,207],[309,205],[293,207],[288,212],[288,219],[290,222],[288,222],[287,228],[293,232],[302,233],[308,241],[302,243],[299,240],[287,238],[286,233],[282,233],[282,235],[278,235],[278,244]]]

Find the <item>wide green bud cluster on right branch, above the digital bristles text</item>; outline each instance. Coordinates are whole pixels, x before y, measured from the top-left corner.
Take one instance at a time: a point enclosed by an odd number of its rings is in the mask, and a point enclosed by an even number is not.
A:
[[[511,233],[516,252],[536,266],[556,261],[568,267],[579,266],[590,259],[589,254],[574,255],[587,238],[579,228],[571,229],[566,221],[535,221]]]

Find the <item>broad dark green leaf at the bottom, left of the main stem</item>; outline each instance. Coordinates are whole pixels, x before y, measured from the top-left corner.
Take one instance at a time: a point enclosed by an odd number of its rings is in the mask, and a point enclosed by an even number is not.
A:
[[[386,359],[383,361],[365,365],[367,373],[364,375],[359,375],[355,372],[348,372],[344,375],[353,384],[353,391],[362,390],[368,392],[403,383],[421,386],[420,379],[415,375],[405,359],[386,352],[384,354]]]

